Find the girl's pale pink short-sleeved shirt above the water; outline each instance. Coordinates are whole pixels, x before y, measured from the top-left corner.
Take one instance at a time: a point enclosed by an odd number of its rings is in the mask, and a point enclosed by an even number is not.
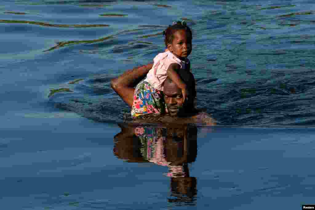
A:
[[[171,52],[159,53],[153,59],[153,67],[146,75],[146,82],[149,82],[153,88],[163,91],[163,82],[167,77],[167,69],[172,63],[180,65],[180,69],[185,69],[189,60],[180,60]]]

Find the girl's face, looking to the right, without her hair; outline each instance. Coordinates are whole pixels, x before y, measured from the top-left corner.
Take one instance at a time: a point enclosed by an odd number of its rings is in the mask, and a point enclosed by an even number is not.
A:
[[[186,58],[192,52],[192,37],[186,30],[177,30],[172,44],[167,44],[167,48],[178,58]]]

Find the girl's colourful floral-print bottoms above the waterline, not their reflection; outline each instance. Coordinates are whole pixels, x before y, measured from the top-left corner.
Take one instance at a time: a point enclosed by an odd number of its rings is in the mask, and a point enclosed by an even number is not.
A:
[[[167,112],[163,92],[153,88],[148,82],[142,80],[135,88],[134,102],[131,107],[131,116],[143,114],[163,114]]]

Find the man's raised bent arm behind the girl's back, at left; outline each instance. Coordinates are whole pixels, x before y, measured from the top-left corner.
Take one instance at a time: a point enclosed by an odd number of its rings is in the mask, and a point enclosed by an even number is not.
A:
[[[146,76],[149,70],[152,69],[152,66],[153,63],[149,63],[147,65],[127,70],[119,77],[111,80],[112,88],[130,107],[132,107],[134,100],[133,95],[135,92],[135,85]]]

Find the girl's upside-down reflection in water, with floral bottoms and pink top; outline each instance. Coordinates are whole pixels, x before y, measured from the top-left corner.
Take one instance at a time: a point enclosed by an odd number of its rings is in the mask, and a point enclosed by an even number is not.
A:
[[[177,145],[180,150],[185,149],[187,146],[187,136],[189,133],[184,130],[177,130],[175,136],[172,137],[171,142],[173,145]],[[180,159],[180,153],[178,149],[173,154],[170,152],[170,145],[168,143],[168,132],[166,128],[162,127],[137,127],[135,134],[139,137],[143,147],[140,149],[142,155],[149,161],[169,168],[169,173],[165,174],[171,178],[171,196],[168,198],[169,202],[193,202],[197,194],[196,190],[196,178],[189,177],[189,169],[187,162],[194,161],[195,157],[185,158],[185,161]],[[174,134],[174,130],[172,132]],[[179,137],[178,137],[179,136]],[[194,132],[190,133],[190,137],[194,136]],[[196,148],[197,149],[197,148]],[[193,154],[194,152],[188,152]],[[186,154],[182,154],[185,156]],[[172,157],[169,157],[172,156]],[[173,161],[171,161],[173,160]],[[175,165],[174,165],[175,163]]]

